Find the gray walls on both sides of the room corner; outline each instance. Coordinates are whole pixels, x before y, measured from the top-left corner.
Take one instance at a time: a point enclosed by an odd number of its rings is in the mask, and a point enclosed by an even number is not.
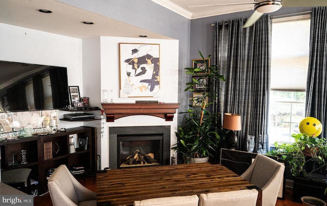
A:
[[[253,11],[237,12],[200,19],[187,19],[169,9],[161,7],[150,0],[58,0],[127,24],[159,33],[179,40],[179,78],[178,102],[179,111],[188,109],[189,96],[185,94],[185,83],[190,77],[184,68],[192,65],[192,59],[198,59],[198,50],[206,57],[213,55],[214,28],[211,24],[218,21],[250,17]],[[308,11],[311,8],[282,8],[271,15],[280,15]],[[178,125],[181,124],[178,115]]]

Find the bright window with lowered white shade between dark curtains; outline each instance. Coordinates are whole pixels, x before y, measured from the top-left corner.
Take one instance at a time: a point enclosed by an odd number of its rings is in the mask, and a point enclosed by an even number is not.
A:
[[[269,143],[294,142],[305,117],[310,15],[273,19]]]

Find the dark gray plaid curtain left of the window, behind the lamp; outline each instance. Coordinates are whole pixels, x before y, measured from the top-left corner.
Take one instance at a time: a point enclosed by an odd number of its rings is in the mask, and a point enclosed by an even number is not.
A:
[[[237,149],[246,150],[246,136],[251,134],[256,151],[258,135],[268,134],[272,21],[266,14],[252,27],[244,29],[243,23],[233,19],[215,25],[214,64],[226,79],[217,83],[221,106],[216,109],[241,115]],[[268,149],[268,135],[266,145]]]

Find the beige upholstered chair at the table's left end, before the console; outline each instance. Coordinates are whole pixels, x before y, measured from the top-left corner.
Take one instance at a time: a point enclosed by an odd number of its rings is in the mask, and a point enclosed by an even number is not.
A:
[[[65,165],[60,165],[48,180],[54,206],[97,205],[97,194],[80,184]]]

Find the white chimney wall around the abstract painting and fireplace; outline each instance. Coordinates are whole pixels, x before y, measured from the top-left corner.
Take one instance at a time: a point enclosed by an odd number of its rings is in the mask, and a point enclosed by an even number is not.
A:
[[[160,44],[160,96],[151,98],[120,98],[119,43],[158,43]],[[101,37],[101,90],[107,90],[110,101],[110,89],[113,89],[113,102],[134,103],[135,100],[158,100],[159,102],[177,103],[178,99],[178,40],[139,39],[122,37]],[[178,112],[178,111],[177,111]],[[130,116],[106,123],[101,138],[101,168],[109,166],[109,127],[119,126],[171,126],[171,146],[177,142],[177,113],[172,122],[152,116]],[[172,154],[173,151],[171,151]]]

